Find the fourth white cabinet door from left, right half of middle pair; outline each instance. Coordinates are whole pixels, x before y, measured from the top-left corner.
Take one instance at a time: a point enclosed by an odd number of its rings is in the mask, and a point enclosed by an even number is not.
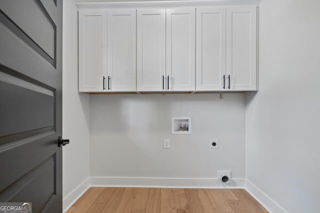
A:
[[[170,91],[195,90],[195,9],[166,10],[166,77]]]

